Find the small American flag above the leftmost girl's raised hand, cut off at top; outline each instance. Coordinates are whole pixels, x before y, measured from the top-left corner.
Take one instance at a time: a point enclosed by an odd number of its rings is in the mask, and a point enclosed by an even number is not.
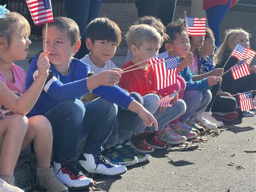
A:
[[[35,25],[53,22],[51,0],[26,0]]]

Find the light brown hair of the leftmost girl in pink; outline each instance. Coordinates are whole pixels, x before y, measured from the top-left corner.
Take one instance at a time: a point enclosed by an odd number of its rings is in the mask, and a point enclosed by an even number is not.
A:
[[[5,18],[0,18],[0,37],[7,39],[8,48],[14,33],[20,37],[27,37],[30,35],[30,26],[24,16],[16,12],[9,12]]]

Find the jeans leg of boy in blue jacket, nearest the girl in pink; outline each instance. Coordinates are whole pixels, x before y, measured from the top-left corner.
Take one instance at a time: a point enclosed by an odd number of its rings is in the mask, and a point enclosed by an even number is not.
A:
[[[78,99],[63,101],[45,116],[52,125],[53,160],[61,163],[77,155],[77,144],[82,134],[82,122],[86,112]]]

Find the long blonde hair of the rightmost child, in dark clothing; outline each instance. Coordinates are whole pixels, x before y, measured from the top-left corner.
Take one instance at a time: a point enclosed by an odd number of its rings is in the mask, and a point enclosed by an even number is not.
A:
[[[250,36],[251,36],[250,33],[243,30],[242,28],[228,29],[224,33],[225,33],[224,40],[223,40],[220,48],[217,50],[216,54],[214,55],[214,64],[215,65],[219,65],[222,62],[224,52],[232,51],[232,49],[234,49],[234,47],[236,47],[235,40],[239,34],[245,34],[246,36],[248,36],[248,38],[250,38]]]

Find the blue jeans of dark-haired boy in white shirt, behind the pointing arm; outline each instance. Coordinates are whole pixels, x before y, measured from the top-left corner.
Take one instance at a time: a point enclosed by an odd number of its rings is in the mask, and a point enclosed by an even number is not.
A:
[[[143,99],[139,93],[132,92],[130,95],[135,98],[136,101],[138,101],[140,104],[143,105]],[[105,144],[108,145],[115,145],[118,143],[119,139],[126,140],[125,133],[127,129],[134,129],[135,123],[138,115],[132,111],[127,111],[120,106],[118,106],[118,113],[117,113],[117,119],[114,125],[114,129],[108,138],[106,140]],[[124,137],[124,138],[123,138]],[[130,138],[129,138],[130,139]]]

